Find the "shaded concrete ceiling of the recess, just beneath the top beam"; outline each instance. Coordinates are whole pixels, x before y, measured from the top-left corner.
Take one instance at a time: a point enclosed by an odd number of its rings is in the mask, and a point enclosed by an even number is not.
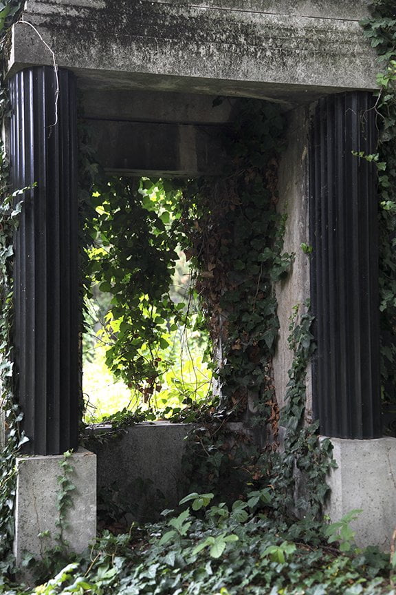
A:
[[[266,101],[281,103],[285,109],[293,109],[298,105],[307,105],[316,101],[324,94],[340,91],[336,87],[303,87],[300,85],[272,85],[269,83],[246,83],[245,81],[219,81],[214,79],[193,79],[190,77],[173,77],[165,75],[133,74],[110,71],[76,71],[78,87],[83,92],[85,113],[89,118],[108,119],[141,118],[142,108],[139,103],[147,103],[144,110],[144,121],[164,121],[159,115],[159,105],[164,107],[164,116],[175,121],[175,116],[170,115],[173,104],[173,112],[178,112],[179,117],[186,117],[186,103],[188,105],[206,106],[209,122],[228,121],[232,118],[232,105],[237,98],[252,97]],[[121,101],[114,100],[117,96],[122,97]],[[212,112],[212,101],[217,96],[228,97],[227,105],[223,103],[221,109],[217,108],[216,115]],[[195,99],[192,99],[195,97]],[[157,103],[157,107],[155,106]],[[152,114],[148,115],[148,105],[151,106]],[[137,112],[132,113],[132,108]],[[209,109],[210,108],[210,109]],[[201,113],[201,108],[199,112]],[[191,112],[191,110],[190,110]],[[122,114],[128,114],[123,116]],[[188,116],[190,118],[191,116]],[[168,120],[165,120],[168,121]],[[180,120],[180,121],[194,121]]]

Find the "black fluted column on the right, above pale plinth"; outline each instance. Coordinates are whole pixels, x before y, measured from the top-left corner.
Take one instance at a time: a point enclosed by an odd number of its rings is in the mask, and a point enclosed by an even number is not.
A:
[[[314,415],[323,435],[381,432],[373,98],[348,92],[314,107],[310,143]]]

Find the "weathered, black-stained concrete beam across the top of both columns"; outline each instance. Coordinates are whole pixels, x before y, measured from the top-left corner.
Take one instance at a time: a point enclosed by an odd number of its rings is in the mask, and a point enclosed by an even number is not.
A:
[[[113,86],[298,98],[375,87],[366,14],[366,0],[30,0],[24,18],[82,84],[101,75]],[[9,69],[51,63],[36,32],[15,25]]]

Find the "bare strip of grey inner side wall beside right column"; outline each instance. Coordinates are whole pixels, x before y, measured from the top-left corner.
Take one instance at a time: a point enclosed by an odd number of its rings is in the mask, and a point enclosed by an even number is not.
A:
[[[287,149],[278,170],[279,213],[287,216],[284,251],[294,253],[292,271],[276,286],[278,317],[281,328],[274,357],[274,381],[280,407],[285,403],[287,370],[292,366],[293,354],[287,345],[289,317],[293,307],[303,306],[309,298],[309,255],[300,245],[309,244],[309,195],[307,180],[308,112],[299,107],[288,114]],[[311,375],[307,373],[307,416],[311,409]]]

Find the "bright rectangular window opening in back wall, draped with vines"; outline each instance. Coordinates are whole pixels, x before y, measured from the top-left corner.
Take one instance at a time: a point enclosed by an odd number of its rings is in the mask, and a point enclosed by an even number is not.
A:
[[[182,180],[97,185],[83,336],[85,422],[120,410],[192,421],[212,404],[211,346],[184,251]]]

